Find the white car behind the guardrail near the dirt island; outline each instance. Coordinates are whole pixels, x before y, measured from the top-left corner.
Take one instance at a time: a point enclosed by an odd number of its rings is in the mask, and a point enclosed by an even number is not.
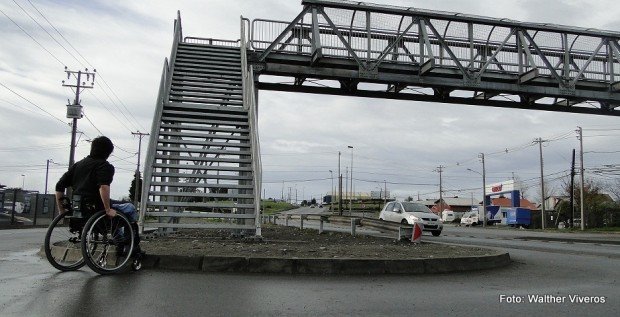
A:
[[[387,203],[379,213],[379,219],[399,222],[405,225],[421,223],[424,231],[430,231],[434,236],[441,234],[443,223],[428,207],[414,202],[393,201]]]

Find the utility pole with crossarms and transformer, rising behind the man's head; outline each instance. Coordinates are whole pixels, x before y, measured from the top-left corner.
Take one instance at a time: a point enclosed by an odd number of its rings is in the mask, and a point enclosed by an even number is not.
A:
[[[71,123],[71,149],[69,152],[69,167],[71,167],[73,166],[73,163],[75,163],[75,135],[77,133],[77,119],[82,118],[80,92],[84,89],[93,88],[95,85],[95,74],[97,73],[97,70],[89,72],[88,68],[86,68],[84,71],[79,70],[76,72],[68,70],[67,67],[65,67],[65,73],[67,73],[67,80],[71,79],[71,76],[74,76],[76,79],[75,85],[65,84],[65,81],[62,81],[63,87],[71,87],[75,92],[75,100],[73,100],[73,104],[67,105],[67,118],[73,120]],[[84,75],[86,75],[86,81],[82,81],[82,77]],[[87,82],[90,82],[90,84],[87,84]]]

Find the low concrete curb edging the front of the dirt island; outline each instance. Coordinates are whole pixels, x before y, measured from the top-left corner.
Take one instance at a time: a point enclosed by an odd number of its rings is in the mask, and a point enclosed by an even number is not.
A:
[[[147,269],[318,275],[433,274],[487,270],[508,266],[507,252],[489,256],[433,259],[322,259],[225,256],[147,255]]]

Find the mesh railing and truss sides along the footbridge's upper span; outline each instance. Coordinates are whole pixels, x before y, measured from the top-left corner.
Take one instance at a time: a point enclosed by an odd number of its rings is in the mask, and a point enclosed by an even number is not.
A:
[[[368,4],[306,0],[291,22],[255,19],[251,47],[269,54],[299,54],[354,59],[374,65],[457,69],[470,78],[487,74],[552,78],[572,87],[577,82],[613,84],[620,76],[620,33],[547,27],[434,11],[386,10]],[[469,19],[469,20],[468,20]]]

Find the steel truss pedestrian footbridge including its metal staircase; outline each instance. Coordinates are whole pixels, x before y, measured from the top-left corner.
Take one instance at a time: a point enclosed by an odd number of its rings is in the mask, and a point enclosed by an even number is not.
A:
[[[141,222],[260,235],[258,90],[620,115],[620,33],[353,1],[240,40],[175,21],[144,171]],[[214,220],[216,219],[216,220]]]

